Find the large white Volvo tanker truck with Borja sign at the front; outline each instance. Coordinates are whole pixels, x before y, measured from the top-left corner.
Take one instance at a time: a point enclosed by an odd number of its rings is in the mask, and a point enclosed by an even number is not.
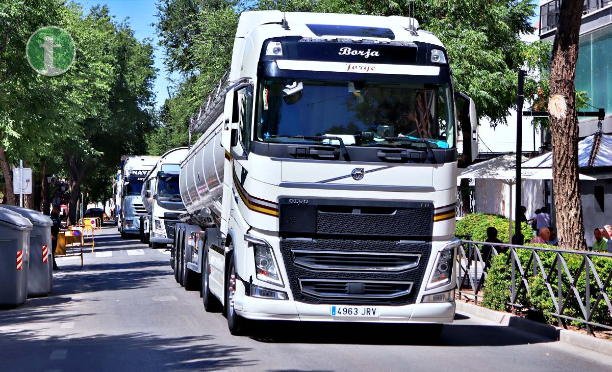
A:
[[[446,49],[412,18],[242,13],[231,69],[190,124],[203,134],[181,163],[177,281],[231,333],[452,322],[455,99]]]

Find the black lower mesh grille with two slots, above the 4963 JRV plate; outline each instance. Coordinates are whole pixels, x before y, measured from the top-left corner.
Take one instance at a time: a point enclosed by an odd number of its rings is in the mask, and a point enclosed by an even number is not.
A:
[[[431,244],[400,240],[295,238],[281,239],[280,248],[289,278],[289,287],[296,301],[407,305],[416,300],[418,290],[412,290],[412,288],[420,288]],[[296,256],[296,252],[304,254]],[[341,252],[341,255],[337,255],[341,256],[341,259],[333,258],[334,252]],[[378,253],[383,254],[376,256]],[[372,256],[376,258],[371,258]],[[366,265],[369,267],[383,267],[381,264],[389,265],[394,262],[397,265],[398,262],[419,259],[414,267],[403,270],[367,270],[363,268],[351,270],[346,267],[348,264],[354,264],[351,261],[360,261],[360,265],[363,266],[364,259],[362,258],[365,257],[370,257],[370,263]],[[389,257],[394,259],[389,259]],[[378,258],[379,261],[377,261]],[[335,264],[344,267],[337,267],[334,270],[312,267],[321,264],[322,260],[326,264],[335,260]],[[357,285],[349,285],[349,283],[357,283]],[[408,285],[410,288],[407,287]],[[351,291],[353,291],[353,296],[346,296],[347,293],[351,294]],[[362,296],[354,293],[359,291],[363,291]],[[366,294],[372,296],[366,296]]]

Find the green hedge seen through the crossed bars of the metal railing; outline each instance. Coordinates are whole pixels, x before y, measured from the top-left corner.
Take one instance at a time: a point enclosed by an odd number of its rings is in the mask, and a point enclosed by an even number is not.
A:
[[[534,244],[535,246],[535,244]],[[550,247],[546,245],[537,245],[538,247]],[[551,247],[556,248],[556,247]],[[525,289],[521,289],[521,294],[518,297],[517,302],[521,305],[524,305],[529,308],[535,308],[535,310],[541,311],[543,314],[543,318],[549,322],[550,324],[557,324],[558,319],[551,315],[551,313],[555,313],[556,310],[554,308],[553,300],[550,297],[550,293],[548,292],[548,288],[545,285],[542,275],[538,273],[537,275],[532,275],[532,266],[529,268],[526,267],[526,264],[531,257],[531,250],[517,250],[517,254],[520,258],[521,265],[524,270],[528,270],[528,283],[529,283],[529,293],[525,291]],[[545,272],[548,274],[556,253],[553,252],[538,252],[540,259],[542,260],[542,265],[544,267]],[[567,262],[567,267],[575,277],[575,273],[578,272],[580,265],[583,261],[583,256],[575,255],[571,253],[563,253],[563,258],[565,262]],[[605,281],[605,278],[612,270],[612,259],[605,257],[592,257],[592,262],[597,269],[597,273],[599,274],[600,281],[602,283]],[[507,255],[501,254],[494,257],[491,261],[491,268],[488,270],[487,279],[485,280],[485,288],[483,290],[483,301],[482,305],[487,308],[491,308],[493,310],[501,310],[501,311],[510,311],[508,302],[510,302],[510,262],[506,264]],[[557,276],[556,276],[556,265],[553,270],[553,276],[550,278],[551,287],[553,293],[557,294]],[[516,288],[518,288],[518,283],[520,280],[520,273],[518,273],[518,269],[516,271]],[[585,301],[585,280],[584,280],[584,270],[580,274],[580,278],[578,278],[577,289],[581,295],[582,302]],[[569,291],[572,291],[570,287],[569,280],[565,275],[565,272],[562,274],[562,291],[563,296],[567,295]],[[595,281],[595,277],[591,272],[590,278],[590,291],[591,291],[591,310],[594,308],[595,300],[599,295],[599,288],[597,287],[597,281]],[[606,289],[608,296],[612,297],[612,288]],[[580,305],[576,297],[570,294],[567,305],[565,305],[565,310],[563,312],[564,315],[572,316],[573,318],[583,319],[582,312],[580,310]],[[608,326],[612,325],[612,316],[610,316],[610,312],[605,304],[605,301],[602,299],[597,305],[597,309],[595,309],[595,313],[593,315],[592,321],[606,324]],[[580,322],[570,322],[574,326],[584,327],[584,325]]]

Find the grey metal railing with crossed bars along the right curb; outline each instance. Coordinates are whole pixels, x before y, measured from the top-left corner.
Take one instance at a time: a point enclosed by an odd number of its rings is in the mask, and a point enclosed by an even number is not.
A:
[[[612,330],[612,303],[607,293],[612,290],[612,254],[493,244],[476,242],[466,237],[458,238],[463,239],[457,254],[457,291],[460,299],[474,300],[476,304],[479,302],[491,260],[503,252],[506,255],[506,267],[510,270],[510,297],[507,305],[513,312],[517,308],[530,306],[529,303],[521,302],[527,302],[529,280],[539,275],[545,285],[543,292],[553,303],[554,312],[551,311],[550,315],[558,319],[559,327],[567,328],[565,321],[574,321],[584,324],[589,334],[592,334],[593,326]],[[610,259],[610,264],[607,261],[597,261],[600,258]],[[597,262],[594,263],[594,259]],[[578,269],[572,272],[568,261],[572,267],[578,266]],[[577,305],[579,309],[575,311],[577,314],[569,311],[568,304],[572,302],[574,308]],[[598,311],[604,324],[594,321]]]

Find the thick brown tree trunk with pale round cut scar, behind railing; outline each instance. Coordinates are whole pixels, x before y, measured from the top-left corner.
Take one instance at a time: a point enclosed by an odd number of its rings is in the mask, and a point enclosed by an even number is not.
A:
[[[583,0],[563,0],[554,37],[550,73],[550,129],[553,134],[554,199],[559,247],[586,249],[578,185],[576,62]]]

